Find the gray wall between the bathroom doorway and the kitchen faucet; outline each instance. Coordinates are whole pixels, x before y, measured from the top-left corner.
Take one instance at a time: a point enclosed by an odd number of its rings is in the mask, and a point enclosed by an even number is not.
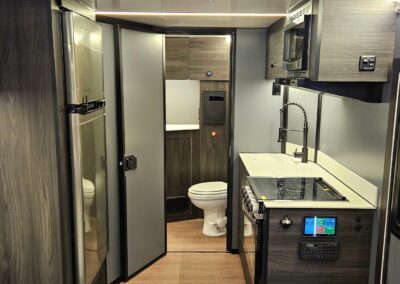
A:
[[[279,152],[279,109],[282,97],[272,96],[265,80],[266,31],[239,29],[236,46],[233,248],[237,248],[238,153]]]

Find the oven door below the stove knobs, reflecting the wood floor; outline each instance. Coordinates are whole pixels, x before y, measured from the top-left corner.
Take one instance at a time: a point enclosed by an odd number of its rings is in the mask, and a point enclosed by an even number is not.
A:
[[[242,259],[246,282],[258,284],[261,279],[262,220],[256,220],[243,205],[242,212]]]

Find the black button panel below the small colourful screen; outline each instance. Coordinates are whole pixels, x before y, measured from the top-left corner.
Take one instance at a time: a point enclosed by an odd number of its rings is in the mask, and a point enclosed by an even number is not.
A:
[[[339,242],[300,241],[299,256],[305,260],[335,261],[339,257]]]

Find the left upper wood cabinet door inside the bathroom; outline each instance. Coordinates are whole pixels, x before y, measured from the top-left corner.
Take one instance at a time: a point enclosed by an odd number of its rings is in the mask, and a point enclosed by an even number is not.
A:
[[[167,80],[189,78],[189,38],[165,38],[165,78]]]

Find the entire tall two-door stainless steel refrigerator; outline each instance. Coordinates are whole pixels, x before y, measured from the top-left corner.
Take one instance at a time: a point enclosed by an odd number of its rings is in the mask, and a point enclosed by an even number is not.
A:
[[[63,12],[76,280],[92,283],[108,251],[102,29]]]

